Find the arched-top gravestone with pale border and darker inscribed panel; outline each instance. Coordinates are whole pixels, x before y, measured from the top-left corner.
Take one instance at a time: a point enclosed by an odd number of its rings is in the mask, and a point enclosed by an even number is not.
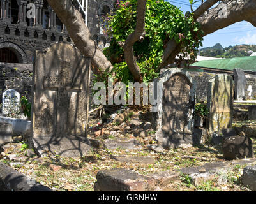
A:
[[[154,83],[162,85],[156,113],[158,143],[165,149],[191,146],[195,109],[192,77],[184,69],[171,68],[155,78]]]

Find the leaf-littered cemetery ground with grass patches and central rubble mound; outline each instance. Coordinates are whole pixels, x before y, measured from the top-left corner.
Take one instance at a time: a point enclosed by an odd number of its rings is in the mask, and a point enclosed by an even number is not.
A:
[[[149,112],[130,112],[124,122],[104,122],[90,119],[88,139],[94,143],[89,154],[80,158],[49,154],[37,157],[28,149],[26,140],[16,138],[16,142],[1,147],[0,161],[31,179],[50,187],[54,191],[94,191],[96,175],[100,170],[125,168],[141,175],[151,175],[162,171],[179,172],[181,168],[202,166],[206,163],[227,161],[223,157],[222,144],[211,142],[195,147],[178,149],[154,149],[157,145],[154,131],[149,124]],[[122,115],[122,114],[120,114]],[[116,116],[118,119],[119,115]],[[115,121],[115,120],[114,120]],[[139,129],[136,122],[142,122]],[[235,122],[239,124],[239,122]],[[253,124],[253,122],[251,122]],[[241,126],[241,124],[239,124]],[[107,141],[135,139],[140,148],[111,147]],[[252,138],[253,149],[256,140]],[[104,145],[105,142],[105,145]],[[151,146],[150,146],[151,145]],[[109,148],[108,148],[109,147]],[[110,148],[111,147],[111,148]],[[179,173],[165,191],[250,191],[242,184],[243,164],[231,165],[227,171],[219,171],[211,180],[193,184],[189,175]],[[200,169],[202,172],[204,168]],[[199,171],[200,171],[199,170]]]

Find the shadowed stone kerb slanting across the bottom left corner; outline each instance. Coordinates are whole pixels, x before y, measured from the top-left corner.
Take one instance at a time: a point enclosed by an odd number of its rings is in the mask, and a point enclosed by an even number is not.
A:
[[[0,191],[53,191],[0,162]]]

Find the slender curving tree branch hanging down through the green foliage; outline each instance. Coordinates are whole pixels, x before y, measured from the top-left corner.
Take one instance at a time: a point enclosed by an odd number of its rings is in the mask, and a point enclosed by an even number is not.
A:
[[[145,13],[147,0],[138,0],[137,3],[137,20],[135,31],[130,34],[124,43],[124,58],[133,77],[137,82],[142,82],[140,68],[134,56],[133,45],[138,40],[143,40],[145,31]]]

